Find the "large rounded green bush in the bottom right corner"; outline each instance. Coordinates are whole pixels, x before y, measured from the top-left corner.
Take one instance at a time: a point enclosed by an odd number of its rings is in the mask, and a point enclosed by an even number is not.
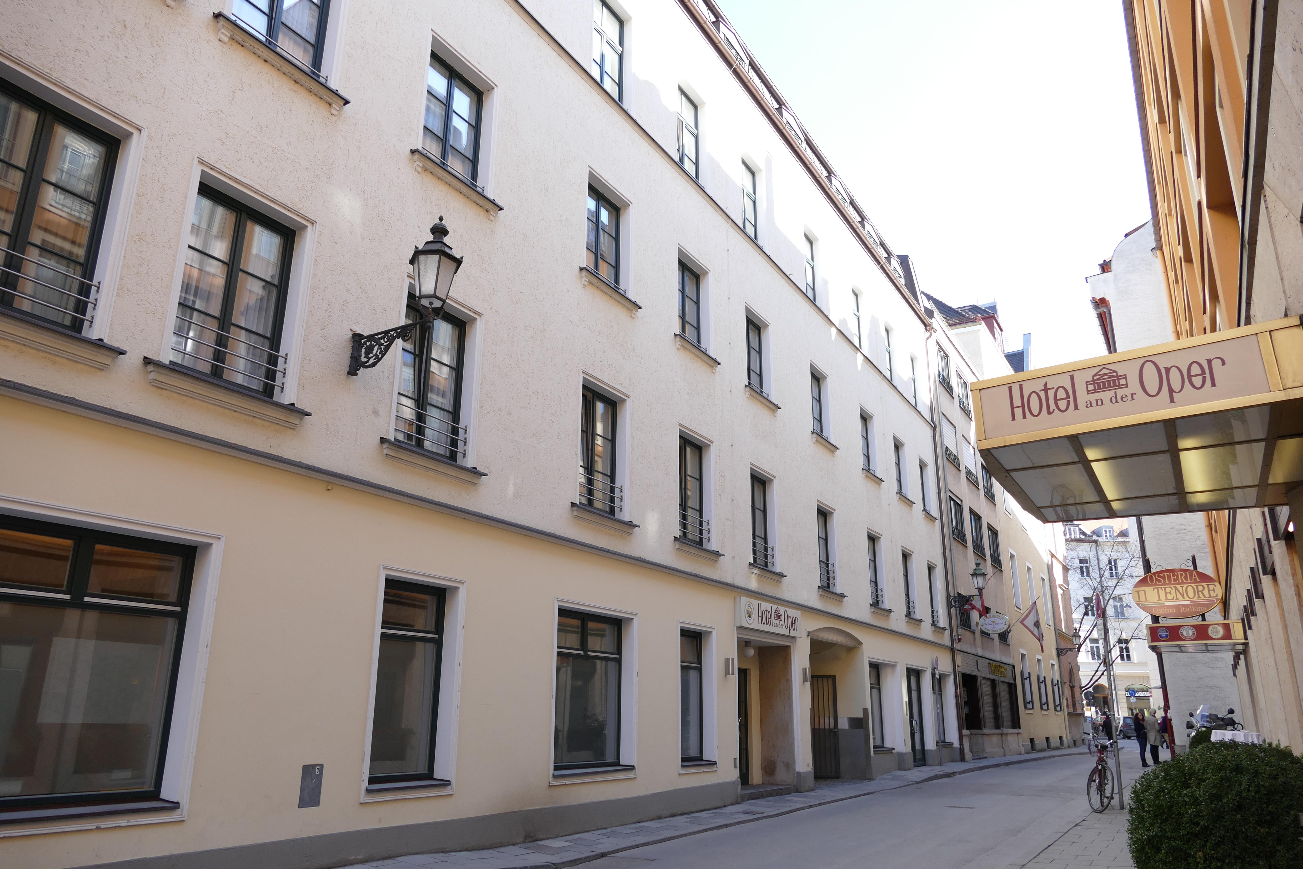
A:
[[[1131,787],[1136,869],[1303,866],[1303,758],[1278,745],[1212,743]]]

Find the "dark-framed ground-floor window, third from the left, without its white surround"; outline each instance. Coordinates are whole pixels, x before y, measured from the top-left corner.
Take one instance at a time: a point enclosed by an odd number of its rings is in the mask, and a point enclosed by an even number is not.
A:
[[[616,619],[556,616],[558,770],[620,762],[620,629]]]

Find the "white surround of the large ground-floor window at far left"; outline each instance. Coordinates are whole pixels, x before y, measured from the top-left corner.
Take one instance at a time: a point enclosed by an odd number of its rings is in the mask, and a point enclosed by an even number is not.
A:
[[[0,839],[47,831],[99,830],[113,826],[159,823],[160,821],[184,821],[190,805],[190,784],[194,778],[194,757],[199,739],[199,718],[208,667],[208,649],[212,644],[212,620],[216,612],[218,581],[222,576],[225,535],[5,495],[0,495],[0,513],[180,543],[193,546],[195,550],[185,632],[177,637],[181,644],[181,657],[177,664],[172,715],[168,722],[167,752],[163,756],[163,783],[159,793],[164,800],[179,803],[180,808],[173,812],[149,813],[146,817],[124,819],[99,817],[87,818],[85,822],[46,819],[16,823],[0,831]]]

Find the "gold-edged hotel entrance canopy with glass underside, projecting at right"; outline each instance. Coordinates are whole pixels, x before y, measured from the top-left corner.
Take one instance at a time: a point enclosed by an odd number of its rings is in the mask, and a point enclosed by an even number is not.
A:
[[[1303,322],[973,383],[977,448],[1046,522],[1286,503],[1303,485]]]

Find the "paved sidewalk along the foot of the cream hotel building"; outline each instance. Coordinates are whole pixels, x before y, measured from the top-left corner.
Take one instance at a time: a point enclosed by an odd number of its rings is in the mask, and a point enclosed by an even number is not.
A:
[[[562,866],[575,866],[612,853],[619,853],[620,851],[641,848],[642,846],[649,844],[659,844],[662,842],[706,833],[708,830],[721,830],[740,823],[752,823],[754,821],[775,818],[783,814],[791,814],[792,812],[812,809],[817,805],[853,800],[855,797],[866,796],[869,793],[893,791],[911,784],[921,784],[923,782],[934,782],[937,779],[951,778],[954,775],[963,775],[964,773],[976,773],[979,770],[988,770],[997,766],[1028,763],[1050,757],[1066,757],[1070,754],[1085,754],[1085,749],[1067,748],[1038,752],[1036,754],[1019,754],[1016,757],[993,757],[981,761],[966,761],[963,763],[946,763],[943,766],[924,766],[913,770],[887,773],[886,775],[882,775],[872,782],[851,779],[817,782],[814,790],[807,793],[771,796],[761,800],[727,805],[721,809],[710,809],[708,812],[694,812],[692,814],[680,814],[657,821],[644,821],[641,823],[609,827],[606,830],[577,833],[560,839],[526,842],[519,846],[513,844],[502,848],[486,848],[483,851],[405,855],[390,860],[358,862],[348,866],[347,869],[414,869],[417,866],[562,869]]]

